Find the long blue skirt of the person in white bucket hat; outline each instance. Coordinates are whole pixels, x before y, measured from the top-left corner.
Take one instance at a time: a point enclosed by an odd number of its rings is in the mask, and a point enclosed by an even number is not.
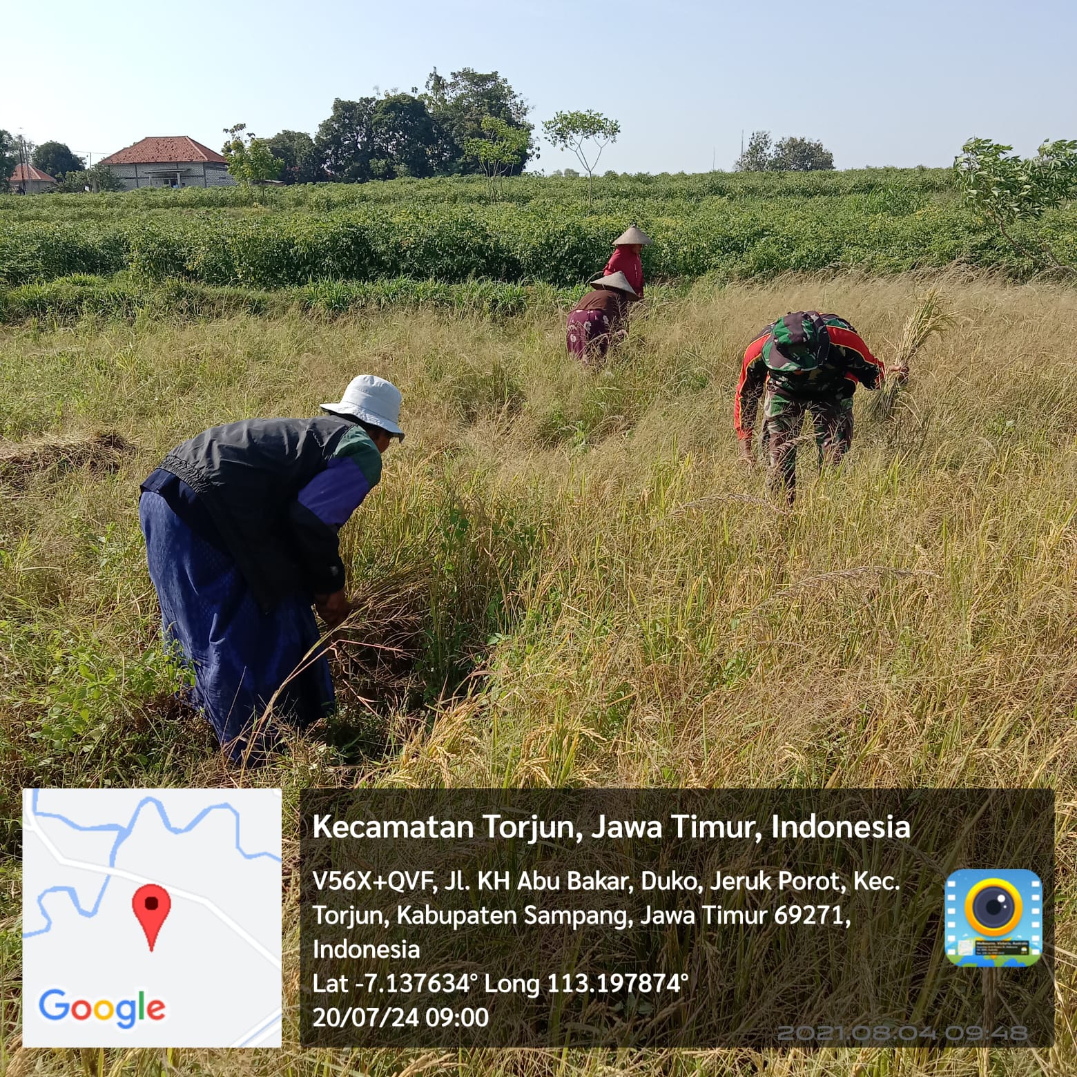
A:
[[[312,651],[320,633],[309,599],[290,596],[263,613],[232,557],[164,498],[143,492],[139,517],[165,639],[194,671],[192,702],[232,758],[261,761],[280,719],[303,728],[328,714],[333,680],[324,653]]]

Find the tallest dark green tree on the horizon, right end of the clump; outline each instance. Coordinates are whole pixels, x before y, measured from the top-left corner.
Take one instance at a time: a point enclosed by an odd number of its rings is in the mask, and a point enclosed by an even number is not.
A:
[[[528,134],[527,145],[518,160],[513,163],[512,171],[522,171],[528,160],[537,156],[531,139],[533,127],[527,121],[530,108],[508,80],[496,71],[461,68],[446,79],[434,68],[426,80],[423,98],[439,135],[434,154],[438,171],[480,170],[464,148],[468,139],[484,137],[482,120],[486,116],[502,120],[509,127]]]

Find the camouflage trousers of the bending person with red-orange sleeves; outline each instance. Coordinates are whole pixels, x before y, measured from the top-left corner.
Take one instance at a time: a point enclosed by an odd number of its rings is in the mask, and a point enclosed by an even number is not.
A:
[[[797,445],[811,417],[819,466],[836,464],[853,443],[852,393],[820,400],[796,400],[767,390],[763,402],[763,451],[769,462],[767,487],[793,501],[797,489]]]

